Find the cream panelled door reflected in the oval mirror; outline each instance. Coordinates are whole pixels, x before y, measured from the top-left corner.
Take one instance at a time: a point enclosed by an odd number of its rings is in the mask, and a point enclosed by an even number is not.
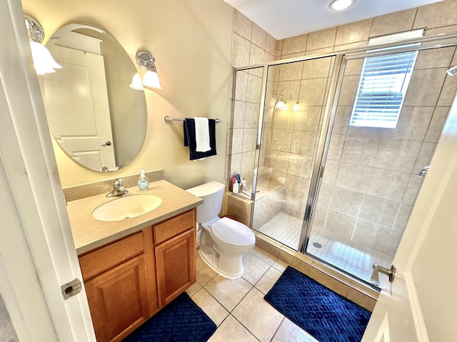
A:
[[[92,170],[116,170],[104,57],[57,45],[62,68],[40,76],[52,135],[65,152]]]

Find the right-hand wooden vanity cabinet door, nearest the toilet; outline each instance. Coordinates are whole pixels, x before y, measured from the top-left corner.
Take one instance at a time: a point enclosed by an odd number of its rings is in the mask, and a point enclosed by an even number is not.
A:
[[[169,304],[195,282],[195,229],[156,246],[159,306]]]

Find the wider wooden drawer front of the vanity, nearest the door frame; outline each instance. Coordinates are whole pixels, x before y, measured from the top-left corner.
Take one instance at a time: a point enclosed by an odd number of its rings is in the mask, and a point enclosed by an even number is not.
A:
[[[143,232],[125,237],[79,257],[84,281],[97,276],[144,251]]]

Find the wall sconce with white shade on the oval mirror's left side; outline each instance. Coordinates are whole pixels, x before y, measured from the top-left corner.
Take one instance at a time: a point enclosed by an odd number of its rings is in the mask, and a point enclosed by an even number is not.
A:
[[[24,14],[27,32],[29,33],[31,58],[34,61],[34,68],[38,75],[45,73],[55,73],[54,69],[61,66],[52,58],[49,50],[41,44],[44,38],[43,27],[33,17]]]

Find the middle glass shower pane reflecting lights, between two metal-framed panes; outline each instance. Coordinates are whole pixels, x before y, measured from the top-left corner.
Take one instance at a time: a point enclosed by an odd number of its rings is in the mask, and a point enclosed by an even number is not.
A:
[[[334,61],[268,66],[252,228],[295,250]]]

